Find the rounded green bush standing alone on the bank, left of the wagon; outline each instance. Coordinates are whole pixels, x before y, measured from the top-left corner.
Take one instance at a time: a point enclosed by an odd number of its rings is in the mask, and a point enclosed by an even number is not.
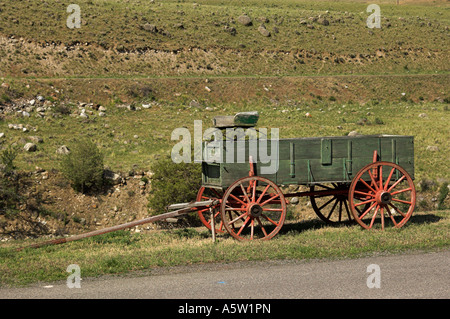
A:
[[[61,171],[76,191],[99,190],[104,183],[103,154],[92,141],[78,141],[64,155]]]

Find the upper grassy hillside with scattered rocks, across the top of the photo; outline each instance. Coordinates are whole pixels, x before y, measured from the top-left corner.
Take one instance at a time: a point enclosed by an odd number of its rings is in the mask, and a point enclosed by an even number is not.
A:
[[[0,4],[1,76],[311,75],[448,71],[448,4],[81,0]],[[240,23],[246,14],[251,25]],[[270,36],[259,31],[263,24]]]

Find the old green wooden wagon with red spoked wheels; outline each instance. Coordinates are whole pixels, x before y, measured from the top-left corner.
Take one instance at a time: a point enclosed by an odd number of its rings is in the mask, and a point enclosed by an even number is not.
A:
[[[209,229],[213,222],[217,233],[227,231],[239,240],[270,239],[283,226],[290,197],[309,197],[316,214],[329,224],[356,221],[367,229],[384,229],[401,227],[412,215],[413,136],[279,139],[278,169],[269,173],[264,170],[268,164],[258,155],[248,156],[251,142],[221,144],[224,154],[232,145],[234,161],[202,162],[197,201],[212,199],[218,204],[215,214],[208,208],[199,209],[198,214]],[[264,142],[270,149],[277,141]],[[242,154],[245,161],[238,161]],[[303,185],[307,190],[289,185]]]

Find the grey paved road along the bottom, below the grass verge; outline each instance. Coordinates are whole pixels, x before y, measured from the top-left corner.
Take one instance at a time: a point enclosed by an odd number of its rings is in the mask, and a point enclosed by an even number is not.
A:
[[[199,265],[133,277],[82,278],[81,288],[68,288],[64,281],[0,289],[0,298],[448,299],[449,261],[450,250],[339,261]]]

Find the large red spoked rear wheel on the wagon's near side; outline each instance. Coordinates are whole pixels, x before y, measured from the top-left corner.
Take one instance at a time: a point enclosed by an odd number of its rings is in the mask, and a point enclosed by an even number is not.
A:
[[[400,228],[414,211],[416,190],[402,167],[375,162],[363,167],[354,177],[348,199],[353,217],[363,228],[373,228],[378,219],[384,229],[385,218]],[[361,207],[364,208],[360,210]]]

